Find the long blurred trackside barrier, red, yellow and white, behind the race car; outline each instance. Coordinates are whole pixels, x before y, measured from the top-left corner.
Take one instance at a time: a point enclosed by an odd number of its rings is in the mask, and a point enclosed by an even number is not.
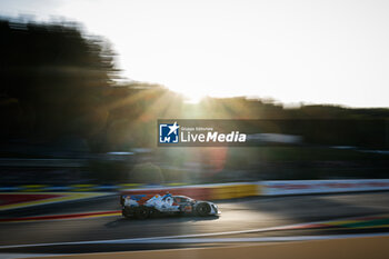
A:
[[[194,199],[225,200],[252,196],[287,196],[331,192],[356,192],[389,190],[389,179],[359,180],[290,180],[290,181],[257,181],[186,186],[170,183],[168,186],[142,186],[138,183],[123,185],[71,185],[71,186],[0,186],[0,192],[121,192],[127,195],[166,193],[186,195]]]

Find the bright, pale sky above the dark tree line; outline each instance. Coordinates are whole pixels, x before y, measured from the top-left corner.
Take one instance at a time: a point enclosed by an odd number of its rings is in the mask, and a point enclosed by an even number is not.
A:
[[[194,100],[389,107],[386,0],[2,0],[0,14],[64,17],[107,37],[119,67]]]

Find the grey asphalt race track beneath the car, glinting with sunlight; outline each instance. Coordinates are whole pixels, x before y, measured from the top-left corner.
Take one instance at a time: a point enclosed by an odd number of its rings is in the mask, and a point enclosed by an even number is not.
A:
[[[210,218],[127,220],[116,212],[120,209],[117,196],[2,211],[0,219],[43,219],[0,222],[0,253],[188,248],[389,232],[389,192],[259,197],[217,203],[221,216]],[[61,217],[96,212],[91,217]],[[46,245],[36,246],[41,243]]]

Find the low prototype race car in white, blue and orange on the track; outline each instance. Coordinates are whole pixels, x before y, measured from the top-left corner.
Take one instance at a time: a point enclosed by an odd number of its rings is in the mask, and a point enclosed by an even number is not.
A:
[[[218,206],[210,201],[193,200],[186,196],[122,195],[121,213],[124,218],[147,219],[153,215],[197,215],[201,217],[218,216]]]

